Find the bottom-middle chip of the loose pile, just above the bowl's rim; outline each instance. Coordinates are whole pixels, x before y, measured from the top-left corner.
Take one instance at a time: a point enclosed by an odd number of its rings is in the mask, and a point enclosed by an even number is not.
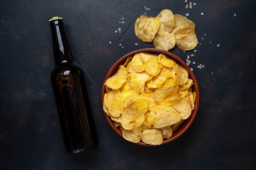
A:
[[[175,42],[176,40],[174,36],[166,31],[158,32],[153,40],[155,48],[163,49],[165,51],[173,49],[173,47],[175,46]]]

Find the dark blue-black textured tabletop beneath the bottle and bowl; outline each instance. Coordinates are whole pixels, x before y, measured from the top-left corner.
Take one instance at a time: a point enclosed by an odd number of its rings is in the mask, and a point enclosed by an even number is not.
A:
[[[184,0],[1,0],[0,169],[256,169],[256,2],[195,2],[186,9]],[[108,125],[101,86],[117,59],[153,47],[136,38],[133,26],[145,12],[157,16],[162,9],[189,13],[196,24],[202,43],[197,51],[175,47],[170,52],[184,61],[195,54],[191,62],[196,64],[190,66],[200,105],[182,136],[145,147],[122,139]],[[99,147],[81,154],[64,150],[50,84],[54,58],[48,18],[55,15],[63,16],[74,58],[87,73],[97,124]],[[115,33],[119,27],[121,33]],[[199,64],[205,67],[198,69]]]

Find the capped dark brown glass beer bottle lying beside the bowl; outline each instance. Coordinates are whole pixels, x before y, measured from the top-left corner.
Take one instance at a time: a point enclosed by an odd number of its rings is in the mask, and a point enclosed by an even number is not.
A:
[[[51,82],[65,150],[76,153],[95,148],[98,139],[84,72],[73,61],[62,17],[52,17],[49,22],[55,59]]]

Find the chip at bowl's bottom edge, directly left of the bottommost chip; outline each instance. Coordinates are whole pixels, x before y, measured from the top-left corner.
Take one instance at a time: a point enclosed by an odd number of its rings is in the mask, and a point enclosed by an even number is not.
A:
[[[139,126],[137,128],[133,128],[132,130],[124,129],[123,137],[127,141],[137,143],[141,140],[141,133],[142,133],[142,126]]]

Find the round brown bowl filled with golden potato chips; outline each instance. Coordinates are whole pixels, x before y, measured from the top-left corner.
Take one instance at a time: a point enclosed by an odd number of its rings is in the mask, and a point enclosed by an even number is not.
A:
[[[162,145],[177,139],[193,122],[199,89],[182,59],[161,49],[140,49],[110,68],[101,101],[108,123],[124,139]]]

